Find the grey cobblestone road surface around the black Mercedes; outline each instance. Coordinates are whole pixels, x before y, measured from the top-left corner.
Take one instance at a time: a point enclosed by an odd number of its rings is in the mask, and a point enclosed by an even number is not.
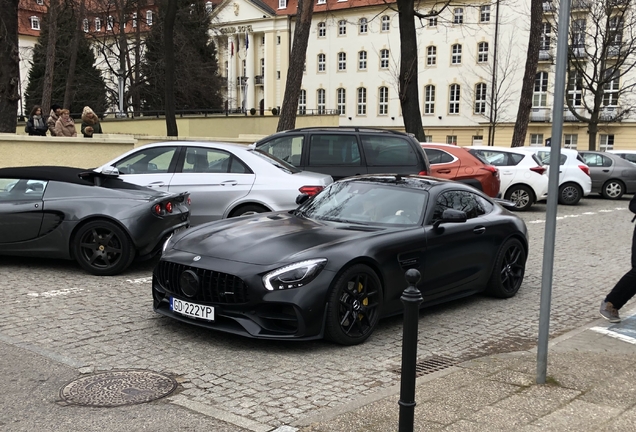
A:
[[[628,269],[628,199],[590,197],[578,206],[559,206],[552,336],[597,318],[602,296]],[[531,248],[519,294],[423,309],[420,358],[466,360],[536,343],[545,209],[539,204],[520,214]],[[356,347],[224,335],[153,312],[154,263],[100,278],[72,262],[3,257],[0,341],[81,373],[141,368],[176,375],[182,390],[173,403],[254,431],[298,424],[399,382],[401,317],[381,321]]]

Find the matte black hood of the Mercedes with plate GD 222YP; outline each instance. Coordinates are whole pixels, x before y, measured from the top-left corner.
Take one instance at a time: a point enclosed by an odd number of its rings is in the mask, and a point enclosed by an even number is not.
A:
[[[381,227],[314,221],[290,213],[224,219],[187,230],[174,249],[257,265],[319,257],[338,243],[393,231]]]

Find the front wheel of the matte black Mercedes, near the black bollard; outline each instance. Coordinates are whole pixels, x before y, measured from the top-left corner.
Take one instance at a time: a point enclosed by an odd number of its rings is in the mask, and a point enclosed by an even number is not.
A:
[[[357,345],[373,333],[380,319],[382,285],[364,264],[345,270],[329,294],[326,336],[341,345]]]

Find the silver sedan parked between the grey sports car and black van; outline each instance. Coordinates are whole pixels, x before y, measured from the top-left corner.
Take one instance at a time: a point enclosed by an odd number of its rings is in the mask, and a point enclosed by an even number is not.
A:
[[[297,207],[329,175],[301,171],[262,150],[218,142],[161,142],[135,148],[97,168],[116,168],[122,179],[169,192],[190,192],[192,225]]]

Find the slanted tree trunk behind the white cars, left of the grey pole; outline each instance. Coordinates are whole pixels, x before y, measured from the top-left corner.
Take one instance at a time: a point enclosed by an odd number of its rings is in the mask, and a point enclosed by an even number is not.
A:
[[[534,79],[537,74],[539,62],[539,45],[541,43],[541,25],[543,19],[543,0],[531,0],[530,3],[530,35],[528,37],[528,54],[526,57],[526,70],[523,73],[521,84],[521,96],[519,98],[519,110],[517,122],[512,134],[511,147],[522,147],[526,141],[530,110],[532,109],[532,93],[534,92]]]

